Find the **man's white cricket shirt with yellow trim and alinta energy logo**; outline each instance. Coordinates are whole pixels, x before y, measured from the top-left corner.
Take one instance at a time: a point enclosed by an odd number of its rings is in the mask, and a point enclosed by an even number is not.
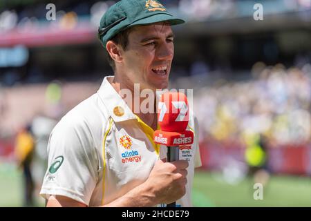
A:
[[[167,148],[154,144],[153,129],[133,114],[109,78],[113,76],[105,77],[97,93],[69,111],[50,134],[40,192],[44,198],[64,195],[88,206],[108,204],[146,181],[156,160],[166,157]],[[189,161],[180,206],[192,206],[194,168],[201,165],[194,117],[188,128],[195,138],[194,144],[180,148],[180,159]]]

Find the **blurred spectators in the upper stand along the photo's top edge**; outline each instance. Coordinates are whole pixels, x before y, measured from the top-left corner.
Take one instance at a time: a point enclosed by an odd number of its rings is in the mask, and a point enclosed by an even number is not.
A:
[[[87,18],[91,20],[94,26],[97,26],[100,15],[115,2],[116,0],[53,1],[57,10],[57,20],[62,20],[64,17],[70,17],[71,20],[77,20],[78,17],[79,19]],[[252,17],[253,11],[249,8],[253,8],[254,4],[258,3],[253,0],[162,0],[161,2],[174,14],[187,17],[188,21]],[[269,12],[271,8],[273,8],[273,12],[303,11],[311,8],[310,0],[269,0],[261,2],[269,7],[266,12]],[[35,3],[32,1],[29,3],[3,1],[0,3],[0,32],[10,31],[14,28],[23,29],[23,26],[29,28],[39,24],[39,21],[44,21],[46,12],[50,9],[46,8],[48,3],[47,1]],[[31,7],[25,7],[27,4],[31,4]]]

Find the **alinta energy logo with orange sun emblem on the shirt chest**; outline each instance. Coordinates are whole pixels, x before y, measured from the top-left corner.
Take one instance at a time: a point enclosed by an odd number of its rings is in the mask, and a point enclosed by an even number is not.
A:
[[[126,151],[121,154],[122,164],[140,162],[142,160],[142,156],[138,153],[138,151],[131,150],[133,142],[129,135],[123,135],[120,137],[119,142],[120,146],[126,149]]]

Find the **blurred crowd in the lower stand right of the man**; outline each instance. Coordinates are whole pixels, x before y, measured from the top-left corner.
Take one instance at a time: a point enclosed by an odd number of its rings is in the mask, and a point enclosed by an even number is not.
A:
[[[194,97],[200,138],[245,145],[263,135],[270,146],[310,141],[311,65],[252,68],[252,79],[216,81]]]

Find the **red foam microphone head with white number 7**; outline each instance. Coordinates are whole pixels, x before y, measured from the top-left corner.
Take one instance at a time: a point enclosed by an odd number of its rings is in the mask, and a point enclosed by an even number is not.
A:
[[[162,131],[185,131],[189,122],[187,97],[183,93],[163,93],[158,104],[158,122]]]

